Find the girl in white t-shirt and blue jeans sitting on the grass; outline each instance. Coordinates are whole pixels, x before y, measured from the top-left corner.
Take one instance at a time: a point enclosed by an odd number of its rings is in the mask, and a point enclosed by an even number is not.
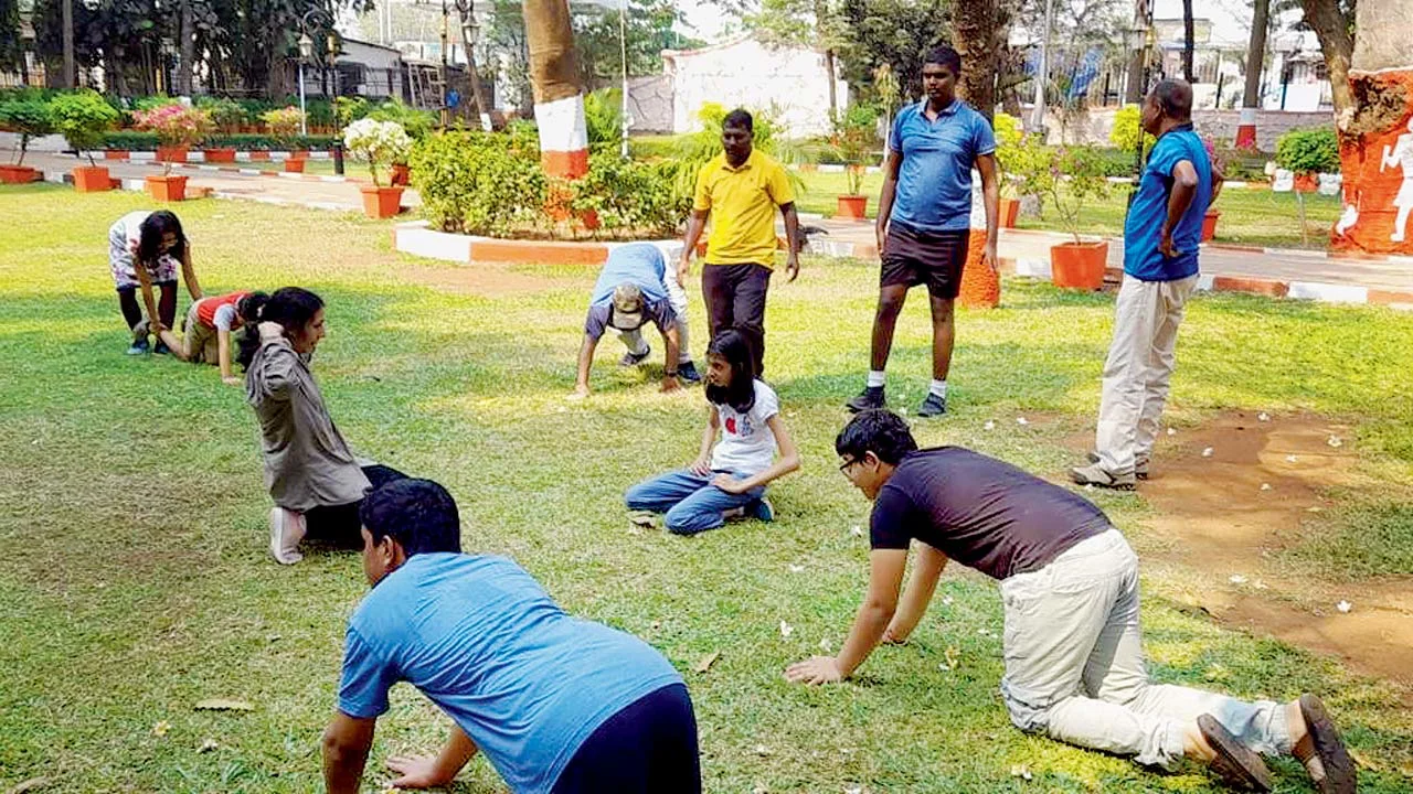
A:
[[[766,485],[798,469],[800,452],[780,421],[776,391],[756,379],[753,360],[750,343],[739,331],[723,331],[711,340],[711,405],[701,455],[685,469],[630,487],[625,496],[629,510],[667,513],[667,530],[682,535],[715,530],[738,516],[774,519]]]

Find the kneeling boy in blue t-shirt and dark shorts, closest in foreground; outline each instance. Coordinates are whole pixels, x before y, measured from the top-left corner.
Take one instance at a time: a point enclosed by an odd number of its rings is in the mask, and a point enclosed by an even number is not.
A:
[[[437,757],[394,757],[391,786],[447,786],[483,752],[517,794],[701,791],[697,718],[646,643],[565,615],[519,565],[461,554],[442,486],[389,483],[363,500],[373,591],[349,620],[338,712],[324,733],[329,794],[356,793],[398,681],[452,718]]]

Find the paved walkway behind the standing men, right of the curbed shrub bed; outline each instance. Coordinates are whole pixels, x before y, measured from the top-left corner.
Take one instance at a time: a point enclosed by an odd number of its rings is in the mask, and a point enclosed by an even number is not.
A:
[[[841,256],[877,257],[872,220],[861,223],[810,218],[800,222],[828,232],[827,236],[815,237],[820,240],[815,244],[817,249]],[[1050,246],[1070,239],[1068,235],[1054,232],[1002,229],[999,253],[1002,260],[1012,260],[1009,267],[1027,273],[1034,270],[1027,267],[1030,263],[1043,261],[1048,267]],[[1364,260],[1330,257],[1324,251],[1202,246],[1201,264],[1202,273],[1210,275],[1279,283],[1341,284],[1413,292],[1413,259],[1407,257]],[[1109,267],[1123,267],[1122,239],[1109,240]]]

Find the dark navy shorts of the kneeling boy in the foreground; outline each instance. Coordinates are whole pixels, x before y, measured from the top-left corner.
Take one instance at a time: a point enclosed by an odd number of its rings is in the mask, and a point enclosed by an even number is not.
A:
[[[697,716],[687,687],[649,692],[598,726],[554,794],[699,794]]]

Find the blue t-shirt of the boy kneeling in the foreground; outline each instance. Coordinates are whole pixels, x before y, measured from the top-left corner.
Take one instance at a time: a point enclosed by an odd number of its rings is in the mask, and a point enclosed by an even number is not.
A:
[[[417,687],[517,794],[548,793],[585,739],[682,678],[646,643],[571,617],[503,557],[417,554],[349,620],[339,711],[376,718]]]

